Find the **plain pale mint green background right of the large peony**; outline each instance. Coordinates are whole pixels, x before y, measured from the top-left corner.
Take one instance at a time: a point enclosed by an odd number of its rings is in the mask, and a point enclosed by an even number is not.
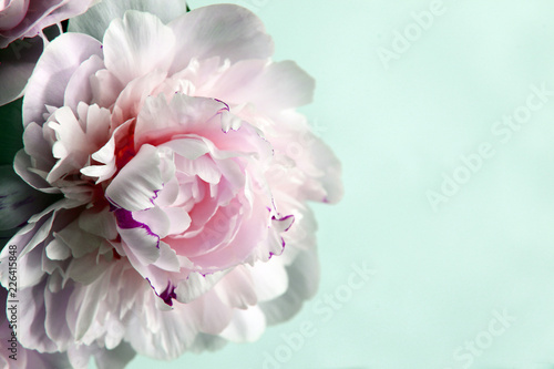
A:
[[[470,368],[554,368],[554,99],[507,143],[491,133],[525,104],[530,84],[554,90],[554,3],[444,0],[386,70],[377,49],[431,2],[240,2],[266,23],[276,60],[317,79],[302,111],[341,158],[346,196],[314,206],[322,276],[301,314],[258,342],[164,368],[263,368],[281,335],[310,321],[316,334],[281,368],[458,369],[454,350],[503,309],[516,321]],[[425,192],[482,142],[495,155],[434,213]],[[363,262],[376,275],[324,321],[316,305]],[[129,366],[154,367],[143,357]]]

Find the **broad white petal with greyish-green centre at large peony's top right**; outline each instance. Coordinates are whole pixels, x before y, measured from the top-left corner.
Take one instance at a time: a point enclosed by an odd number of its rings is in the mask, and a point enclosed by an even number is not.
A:
[[[194,9],[168,24],[183,35],[176,44],[176,58],[170,73],[185,69],[189,61],[220,57],[236,62],[266,59],[274,52],[271,38],[253,12],[232,4]]]

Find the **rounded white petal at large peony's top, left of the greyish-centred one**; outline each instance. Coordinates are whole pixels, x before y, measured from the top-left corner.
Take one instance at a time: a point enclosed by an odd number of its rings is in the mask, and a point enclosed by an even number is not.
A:
[[[130,10],[115,19],[104,35],[106,69],[126,84],[160,69],[174,59],[175,35],[153,14]]]

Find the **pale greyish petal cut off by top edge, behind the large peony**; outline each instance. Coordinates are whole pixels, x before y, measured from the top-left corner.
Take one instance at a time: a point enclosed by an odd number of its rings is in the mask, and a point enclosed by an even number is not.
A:
[[[84,14],[70,19],[68,30],[86,33],[102,42],[110,22],[123,18],[127,10],[150,12],[166,24],[188,11],[185,0],[103,0]]]

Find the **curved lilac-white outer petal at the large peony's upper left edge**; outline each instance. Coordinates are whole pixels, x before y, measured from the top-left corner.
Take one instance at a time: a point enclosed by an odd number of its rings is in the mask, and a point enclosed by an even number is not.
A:
[[[90,35],[64,33],[48,45],[29,80],[23,99],[23,125],[42,125],[45,105],[62,106],[65,88],[82,62],[98,55],[102,45]]]

